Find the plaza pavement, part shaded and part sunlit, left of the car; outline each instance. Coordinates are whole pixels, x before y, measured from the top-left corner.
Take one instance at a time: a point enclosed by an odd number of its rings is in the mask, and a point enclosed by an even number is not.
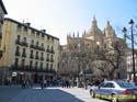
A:
[[[92,99],[89,90],[81,88],[22,89],[20,86],[1,87],[0,102],[106,102]]]

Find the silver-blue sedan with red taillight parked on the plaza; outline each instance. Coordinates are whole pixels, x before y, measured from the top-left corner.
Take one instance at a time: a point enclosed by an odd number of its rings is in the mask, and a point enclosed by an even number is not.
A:
[[[123,80],[104,81],[98,87],[91,87],[90,94],[112,102],[137,102],[137,87]]]

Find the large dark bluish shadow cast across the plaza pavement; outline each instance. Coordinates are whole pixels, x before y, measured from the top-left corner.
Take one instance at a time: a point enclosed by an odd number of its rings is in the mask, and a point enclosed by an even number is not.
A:
[[[22,89],[21,87],[0,88],[0,102],[83,102],[59,89]]]

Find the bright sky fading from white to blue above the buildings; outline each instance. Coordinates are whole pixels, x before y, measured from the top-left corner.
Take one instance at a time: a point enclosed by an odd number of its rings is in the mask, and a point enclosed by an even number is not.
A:
[[[93,15],[101,30],[109,20],[121,36],[128,21],[137,22],[137,0],[3,0],[7,18],[31,22],[38,30],[58,37],[66,44],[67,33],[81,33],[91,27]],[[137,24],[137,23],[136,23]]]

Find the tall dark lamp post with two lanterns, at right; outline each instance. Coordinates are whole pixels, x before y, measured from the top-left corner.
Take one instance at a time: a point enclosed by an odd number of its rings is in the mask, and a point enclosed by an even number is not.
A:
[[[130,25],[130,34],[132,34],[132,56],[133,56],[133,75],[134,75],[133,81],[136,82],[134,34],[133,34],[133,31],[134,31],[134,21],[130,20],[128,24]],[[127,37],[126,36],[126,32],[127,32],[126,27],[123,29],[123,32],[125,34],[125,37]]]

